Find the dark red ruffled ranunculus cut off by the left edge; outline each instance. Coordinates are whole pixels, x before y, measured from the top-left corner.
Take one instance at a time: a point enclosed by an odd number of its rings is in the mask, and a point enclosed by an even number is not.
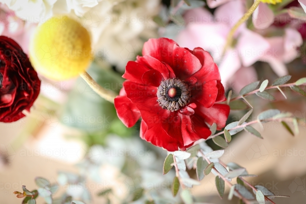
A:
[[[12,39],[0,36],[0,122],[17,121],[30,110],[40,80],[28,56]]]

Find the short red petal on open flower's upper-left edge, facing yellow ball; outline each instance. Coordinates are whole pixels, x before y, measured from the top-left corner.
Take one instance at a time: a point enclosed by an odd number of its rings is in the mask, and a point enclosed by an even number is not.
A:
[[[142,75],[145,72],[149,71],[150,69],[140,63],[129,61],[126,64],[125,72],[122,75],[123,78],[130,80],[136,83],[143,83],[142,82]]]

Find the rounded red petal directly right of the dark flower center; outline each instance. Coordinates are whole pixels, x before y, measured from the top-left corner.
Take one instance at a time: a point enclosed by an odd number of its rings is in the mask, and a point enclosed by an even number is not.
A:
[[[217,82],[213,80],[204,83],[200,89],[195,86],[193,87],[191,93],[194,100],[200,102],[202,106],[209,108],[214,105],[218,95]]]

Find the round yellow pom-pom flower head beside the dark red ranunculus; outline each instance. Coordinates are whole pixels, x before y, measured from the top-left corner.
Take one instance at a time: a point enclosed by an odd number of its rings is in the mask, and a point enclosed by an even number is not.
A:
[[[83,73],[92,59],[89,33],[67,16],[52,17],[35,31],[29,57],[39,74],[71,79]]]

